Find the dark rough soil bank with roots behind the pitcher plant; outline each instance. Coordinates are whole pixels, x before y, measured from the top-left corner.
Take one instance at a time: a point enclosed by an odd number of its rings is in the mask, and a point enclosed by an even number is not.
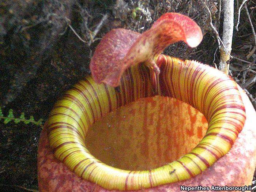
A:
[[[221,16],[218,21],[218,2],[208,0],[207,4],[221,35],[219,26],[222,26],[223,18]],[[255,6],[253,2],[248,3],[248,7]],[[136,7],[143,11],[137,11],[134,18],[132,12]],[[235,11],[237,13],[237,6]],[[255,9],[250,9],[255,23],[253,11]],[[80,41],[68,27],[69,23],[81,38],[89,42],[91,31],[105,14],[108,14],[108,19],[95,38],[101,38],[110,29],[118,27],[143,32],[165,12],[188,15],[199,24],[204,34],[197,48],[176,43],[169,46],[165,54],[214,66],[212,62],[218,44],[201,0],[0,1],[0,106],[3,113],[7,115],[8,110],[13,109],[16,117],[25,112],[27,118],[32,115],[35,120],[42,118],[45,121],[63,93],[90,73],[90,58],[99,40],[95,39],[91,45]],[[234,34],[232,52],[241,59],[246,59],[253,46],[250,27],[245,12],[241,12],[240,30]],[[249,61],[255,63],[255,60],[254,53]],[[214,62],[219,62],[218,51]],[[248,71],[244,74],[246,70],[243,69],[249,65],[241,61],[233,59],[230,66],[241,85],[253,75]],[[255,84],[246,89],[252,99],[256,97]],[[0,122],[0,191],[38,189],[37,144],[41,130],[40,126],[33,124]]]

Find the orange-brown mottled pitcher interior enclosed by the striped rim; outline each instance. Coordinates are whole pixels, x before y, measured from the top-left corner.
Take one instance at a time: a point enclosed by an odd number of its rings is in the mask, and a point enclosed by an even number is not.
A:
[[[126,170],[147,170],[179,159],[208,127],[198,110],[175,98],[142,98],[94,123],[86,134],[90,153]]]

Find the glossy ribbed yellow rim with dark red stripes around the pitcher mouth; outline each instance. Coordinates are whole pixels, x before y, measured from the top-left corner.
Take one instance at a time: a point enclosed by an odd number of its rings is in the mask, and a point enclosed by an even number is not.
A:
[[[177,161],[154,169],[118,169],[94,157],[85,142],[88,129],[118,107],[155,96],[150,77],[147,68],[135,65],[124,73],[120,90],[96,84],[90,76],[76,84],[56,103],[48,120],[48,139],[55,157],[103,188],[136,190],[194,177],[230,150],[245,122],[237,84],[196,61],[163,56],[158,95],[176,98],[200,111],[208,121],[203,138]]]

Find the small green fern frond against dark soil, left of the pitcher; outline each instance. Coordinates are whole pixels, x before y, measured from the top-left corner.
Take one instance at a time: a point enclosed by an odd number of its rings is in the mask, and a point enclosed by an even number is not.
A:
[[[14,117],[14,114],[13,114],[13,110],[10,109],[9,112],[8,112],[8,116],[4,116],[3,112],[2,112],[2,109],[0,107],[0,121],[1,120],[4,120],[3,123],[4,124],[7,124],[7,123],[10,123],[11,121],[14,121],[14,123],[18,124],[20,122],[23,122],[24,124],[29,124],[29,123],[32,123],[34,125],[38,125],[40,127],[42,127],[42,122],[43,120],[42,119],[39,119],[38,121],[35,121],[34,117],[33,116],[30,116],[29,119],[26,119],[25,117],[25,113],[21,113],[20,114],[20,117]]]

